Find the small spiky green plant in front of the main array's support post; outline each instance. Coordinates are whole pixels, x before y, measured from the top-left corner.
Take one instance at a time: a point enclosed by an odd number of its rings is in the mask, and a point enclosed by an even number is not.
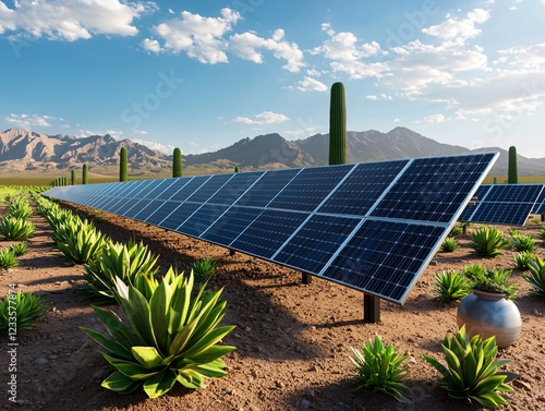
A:
[[[350,379],[358,389],[371,389],[392,396],[398,401],[411,403],[407,397],[411,390],[402,383],[409,375],[404,364],[408,354],[400,354],[392,344],[384,346],[379,336],[362,344],[362,351],[351,347],[354,356],[349,356],[355,374]]]

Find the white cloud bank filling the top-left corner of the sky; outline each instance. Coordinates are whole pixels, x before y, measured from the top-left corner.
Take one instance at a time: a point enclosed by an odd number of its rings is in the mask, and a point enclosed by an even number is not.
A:
[[[74,41],[93,35],[134,36],[133,21],[157,9],[152,2],[120,0],[20,0],[9,9],[0,1],[0,34],[21,31],[21,35]]]

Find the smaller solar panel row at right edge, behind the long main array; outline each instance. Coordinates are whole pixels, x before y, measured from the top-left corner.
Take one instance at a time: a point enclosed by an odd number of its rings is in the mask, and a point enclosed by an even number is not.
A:
[[[460,221],[524,226],[543,184],[484,184]]]

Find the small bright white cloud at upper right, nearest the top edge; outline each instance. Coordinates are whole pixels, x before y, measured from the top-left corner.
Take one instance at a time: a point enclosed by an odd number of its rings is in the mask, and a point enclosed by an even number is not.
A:
[[[489,19],[491,14],[483,9],[475,9],[467,14],[465,19],[448,19],[435,26],[423,28],[422,33],[439,37],[444,40],[468,39],[481,33],[476,24],[482,24]]]

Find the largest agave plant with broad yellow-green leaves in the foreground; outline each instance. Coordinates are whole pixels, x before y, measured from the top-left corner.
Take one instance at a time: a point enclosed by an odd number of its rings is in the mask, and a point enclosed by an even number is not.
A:
[[[217,343],[234,326],[218,327],[227,304],[220,300],[222,290],[205,292],[201,287],[192,299],[193,275],[185,278],[172,269],[161,282],[137,276],[135,283],[128,286],[116,279],[116,295],[129,324],[94,306],[109,337],[82,328],[108,350],[102,355],[118,370],[101,386],[118,392],[143,387],[149,398],[155,398],[169,391],[175,382],[202,388],[205,378],[227,375],[221,356],[234,347]],[[146,292],[141,292],[144,287]]]

